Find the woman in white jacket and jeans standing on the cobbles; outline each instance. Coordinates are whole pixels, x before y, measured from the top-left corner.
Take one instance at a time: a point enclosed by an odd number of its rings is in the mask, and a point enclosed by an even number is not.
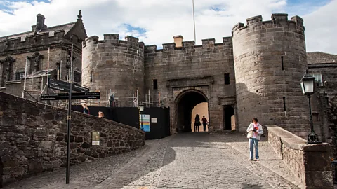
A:
[[[247,138],[249,138],[249,160],[253,161],[254,153],[253,147],[255,146],[255,158],[258,161],[258,141],[261,139],[261,134],[263,134],[262,125],[258,123],[258,118],[253,118],[253,123],[251,123],[247,128]]]

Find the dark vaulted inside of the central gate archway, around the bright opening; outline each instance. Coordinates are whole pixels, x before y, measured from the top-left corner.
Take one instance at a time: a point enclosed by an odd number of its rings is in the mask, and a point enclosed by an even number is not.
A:
[[[176,132],[191,132],[192,110],[202,102],[209,103],[207,95],[198,89],[180,90],[174,98],[173,130]]]

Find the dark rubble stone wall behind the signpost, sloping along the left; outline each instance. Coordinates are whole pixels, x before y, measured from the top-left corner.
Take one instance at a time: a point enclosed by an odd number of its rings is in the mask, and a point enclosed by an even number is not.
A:
[[[92,146],[92,132],[100,145]],[[4,183],[66,165],[67,110],[0,92],[0,160]],[[72,112],[70,162],[105,158],[145,144],[145,133],[128,125]],[[0,164],[1,164],[0,162]]]

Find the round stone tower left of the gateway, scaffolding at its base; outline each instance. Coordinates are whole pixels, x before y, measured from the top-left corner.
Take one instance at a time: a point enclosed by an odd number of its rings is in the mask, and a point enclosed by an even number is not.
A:
[[[105,34],[103,41],[91,36],[83,43],[82,84],[91,92],[100,91],[100,104],[91,106],[106,106],[110,89],[121,106],[131,106],[126,97],[136,96],[137,90],[139,100],[144,100],[144,43],[131,36],[125,39]]]

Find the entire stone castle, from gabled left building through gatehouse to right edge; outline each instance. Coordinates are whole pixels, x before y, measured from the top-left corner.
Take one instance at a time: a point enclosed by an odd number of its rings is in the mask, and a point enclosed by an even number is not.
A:
[[[48,72],[67,80],[73,43],[75,80],[100,91],[103,102],[114,92],[121,106],[137,105],[128,97],[138,94],[138,102],[169,106],[171,133],[191,131],[194,106],[206,103],[212,132],[245,131],[257,117],[263,125],[279,125],[306,138],[309,108],[300,79],[309,69],[318,83],[312,98],[315,130],[336,145],[337,58],[307,53],[304,31],[302,18],[272,14],[271,20],[256,16],[234,25],[232,36],[220,43],[209,38],[195,45],[174,36],[174,43],[158,49],[132,36],[87,38],[81,13],[77,22],[55,27],[46,27],[44,16],[37,15],[32,31],[0,38],[0,90],[22,95],[26,57],[26,90],[43,90]]]

